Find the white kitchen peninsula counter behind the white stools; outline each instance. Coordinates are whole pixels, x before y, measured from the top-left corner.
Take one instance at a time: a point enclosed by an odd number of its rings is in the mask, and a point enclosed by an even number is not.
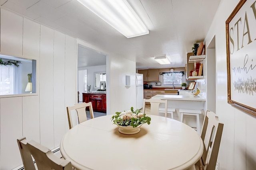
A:
[[[206,98],[203,96],[194,97],[194,95],[162,95],[158,94],[152,97],[153,99],[162,99],[168,100],[167,107],[175,108],[174,119],[180,121],[180,112],[179,109],[195,109],[201,110],[202,114],[200,114],[200,127],[202,127],[202,123],[204,121],[204,113],[206,111],[205,102]],[[170,115],[167,115],[170,117]],[[196,127],[196,118],[192,115],[184,115],[183,123],[191,127]]]

